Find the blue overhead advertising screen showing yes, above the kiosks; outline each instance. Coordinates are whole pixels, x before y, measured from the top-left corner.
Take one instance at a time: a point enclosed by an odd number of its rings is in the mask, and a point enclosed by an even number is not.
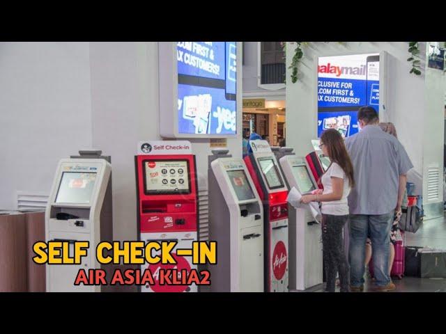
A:
[[[178,133],[236,134],[236,42],[177,42]]]

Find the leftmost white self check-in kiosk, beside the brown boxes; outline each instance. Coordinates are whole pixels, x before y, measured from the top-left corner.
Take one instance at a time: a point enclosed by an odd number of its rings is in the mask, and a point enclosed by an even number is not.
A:
[[[74,241],[89,241],[89,249],[81,264],[47,264],[47,292],[101,291],[100,286],[74,285],[79,269],[107,270],[95,256],[100,241],[113,240],[112,166],[101,153],[79,151],[57,166],[45,211],[45,239],[68,243],[68,255]]]

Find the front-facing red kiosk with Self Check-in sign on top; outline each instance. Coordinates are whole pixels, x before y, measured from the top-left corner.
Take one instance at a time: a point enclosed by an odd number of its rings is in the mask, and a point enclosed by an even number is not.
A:
[[[155,285],[141,292],[197,292],[197,285],[160,285],[163,269],[197,269],[192,256],[178,256],[175,249],[192,249],[198,240],[197,165],[189,141],[144,141],[134,159],[137,177],[139,240],[177,241],[172,253],[177,264],[144,264]]]

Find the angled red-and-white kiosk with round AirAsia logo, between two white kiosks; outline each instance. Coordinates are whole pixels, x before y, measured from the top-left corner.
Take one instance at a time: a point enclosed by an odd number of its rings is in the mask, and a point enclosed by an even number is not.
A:
[[[288,291],[288,188],[267,141],[250,141],[244,158],[263,203],[265,291]]]

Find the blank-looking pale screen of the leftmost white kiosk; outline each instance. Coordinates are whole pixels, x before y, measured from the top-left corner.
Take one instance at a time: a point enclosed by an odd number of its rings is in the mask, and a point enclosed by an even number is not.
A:
[[[56,203],[89,204],[96,173],[63,172]]]

